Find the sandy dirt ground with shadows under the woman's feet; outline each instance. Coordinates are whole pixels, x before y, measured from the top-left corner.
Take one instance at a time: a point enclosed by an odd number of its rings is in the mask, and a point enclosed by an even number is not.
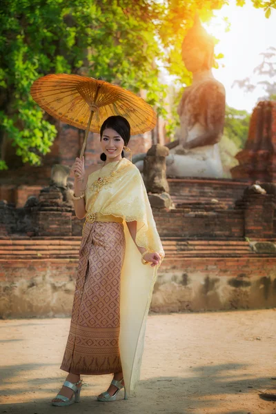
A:
[[[137,395],[97,402],[111,375],[84,375],[81,402],[52,406],[69,318],[0,321],[0,413],[273,414],[276,310],[152,314]]]

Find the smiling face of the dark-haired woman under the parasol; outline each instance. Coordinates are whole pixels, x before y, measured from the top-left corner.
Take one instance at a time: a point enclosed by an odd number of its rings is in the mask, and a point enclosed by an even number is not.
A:
[[[106,161],[121,159],[121,151],[124,148],[124,139],[117,131],[106,128],[101,135],[101,149],[106,154]]]

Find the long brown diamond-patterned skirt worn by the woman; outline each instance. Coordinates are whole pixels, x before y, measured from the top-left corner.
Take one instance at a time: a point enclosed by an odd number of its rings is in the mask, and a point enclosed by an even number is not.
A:
[[[86,375],[122,371],[120,279],[125,246],[122,223],[95,221],[83,228],[63,371]]]

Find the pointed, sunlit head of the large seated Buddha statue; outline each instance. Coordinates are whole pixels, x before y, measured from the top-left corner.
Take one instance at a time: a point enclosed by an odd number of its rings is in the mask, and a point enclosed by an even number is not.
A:
[[[190,72],[210,69],[213,66],[214,41],[201,26],[198,15],[182,43],[182,59]]]

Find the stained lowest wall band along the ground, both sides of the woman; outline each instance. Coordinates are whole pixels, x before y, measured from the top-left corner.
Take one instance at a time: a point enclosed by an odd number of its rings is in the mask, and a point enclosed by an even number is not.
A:
[[[0,317],[70,316],[77,263],[0,260]],[[275,306],[276,257],[165,258],[151,302],[155,312]]]

